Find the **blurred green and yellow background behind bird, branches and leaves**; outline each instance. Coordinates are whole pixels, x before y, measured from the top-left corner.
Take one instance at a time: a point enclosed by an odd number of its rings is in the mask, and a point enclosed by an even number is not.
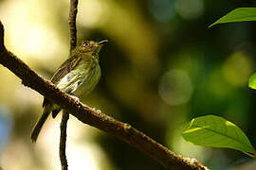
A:
[[[109,44],[101,50],[101,81],[86,105],[129,123],[210,169],[255,169],[239,151],[195,146],[181,138],[193,118],[215,114],[241,127],[252,145],[256,92],[247,88],[256,65],[256,25],[207,28],[252,0],[81,0],[78,38]],[[47,78],[68,57],[69,1],[1,0],[8,49]],[[30,130],[42,113],[43,96],[0,66],[0,166],[61,169],[60,118],[48,119],[37,144]],[[71,116],[69,169],[164,169],[137,149]]]

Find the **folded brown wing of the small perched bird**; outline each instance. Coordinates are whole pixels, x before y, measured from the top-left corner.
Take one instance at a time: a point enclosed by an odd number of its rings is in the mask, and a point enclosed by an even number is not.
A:
[[[57,72],[52,76],[51,82],[53,84],[57,84],[60,81],[60,79],[62,79],[71,70],[73,70],[80,61],[81,58],[78,58],[76,56],[66,59],[64,63],[58,68]],[[46,107],[48,102],[49,101],[46,98],[44,98],[43,107]]]

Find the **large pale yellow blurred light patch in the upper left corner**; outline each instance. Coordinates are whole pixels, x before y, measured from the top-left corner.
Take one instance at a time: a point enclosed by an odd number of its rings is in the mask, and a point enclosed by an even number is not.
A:
[[[51,58],[64,49],[58,33],[52,27],[44,11],[45,3],[32,0],[6,1],[0,7],[5,25],[6,45],[20,58]]]

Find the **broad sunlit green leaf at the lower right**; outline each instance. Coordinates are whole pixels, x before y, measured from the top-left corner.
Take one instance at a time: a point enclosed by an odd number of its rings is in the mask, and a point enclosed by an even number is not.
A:
[[[187,142],[196,145],[232,148],[243,151],[251,157],[256,154],[247,136],[239,127],[215,115],[192,119],[189,127],[182,132],[182,136]]]

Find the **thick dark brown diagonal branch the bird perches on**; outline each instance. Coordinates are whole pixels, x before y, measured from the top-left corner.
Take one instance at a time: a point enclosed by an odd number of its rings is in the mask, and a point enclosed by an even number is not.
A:
[[[2,25],[0,23],[0,25]],[[81,102],[76,101],[67,93],[64,93],[42,76],[37,75],[26,63],[15,57],[4,46],[4,30],[0,26],[0,63],[7,67],[12,73],[22,79],[22,83],[46,96],[51,102],[56,103],[64,110],[71,113],[82,123],[97,127],[112,134],[127,144],[135,146],[140,151],[149,155],[155,161],[160,162],[168,169],[182,170],[206,170],[208,169],[195,159],[183,158],[175,154],[167,147],[156,143],[153,139],[138,131],[129,124],[119,122],[112,117],[93,110]]]

